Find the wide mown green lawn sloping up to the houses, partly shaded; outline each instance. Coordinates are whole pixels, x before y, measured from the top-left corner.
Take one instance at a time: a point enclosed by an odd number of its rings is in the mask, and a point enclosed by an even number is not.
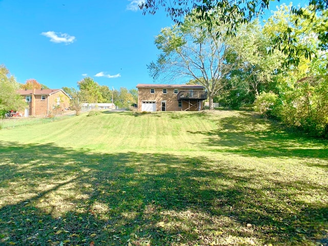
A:
[[[328,244],[328,141],[252,112],[2,124],[1,245]]]

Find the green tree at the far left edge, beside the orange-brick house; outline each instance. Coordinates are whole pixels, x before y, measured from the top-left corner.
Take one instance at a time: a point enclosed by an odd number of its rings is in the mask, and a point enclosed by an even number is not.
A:
[[[26,107],[22,97],[16,93],[18,87],[14,76],[4,65],[0,65],[0,116],[8,110],[19,111]]]

